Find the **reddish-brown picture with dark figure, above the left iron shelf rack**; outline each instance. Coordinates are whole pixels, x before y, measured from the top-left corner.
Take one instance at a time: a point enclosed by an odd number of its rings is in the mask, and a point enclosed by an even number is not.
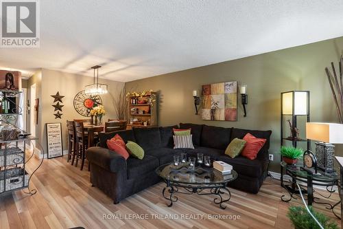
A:
[[[20,91],[21,72],[0,70],[0,90]]]

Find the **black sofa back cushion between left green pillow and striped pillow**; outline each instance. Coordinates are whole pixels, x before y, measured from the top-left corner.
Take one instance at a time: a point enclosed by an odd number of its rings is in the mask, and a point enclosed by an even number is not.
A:
[[[144,151],[161,148],[161,133],[159,127],[133,128],[134,138]]]

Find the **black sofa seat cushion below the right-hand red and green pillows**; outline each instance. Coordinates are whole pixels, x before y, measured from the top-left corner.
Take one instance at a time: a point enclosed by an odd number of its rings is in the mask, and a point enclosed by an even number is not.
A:
[[[231,158],[227,155],[223,155],[218,158],[225,163],[233,166],[238,175],[246,175],[249,177],[261,177],[263,175],[263,162],[260,160],[250,160],[246,157],[238,156]]]

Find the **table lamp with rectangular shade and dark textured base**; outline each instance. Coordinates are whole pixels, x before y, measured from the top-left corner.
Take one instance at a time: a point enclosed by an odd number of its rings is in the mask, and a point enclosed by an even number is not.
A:
[[[306,138],[315,140],[317,166],[326,173],[333,172],[333,157],[335,146],[343,144],[343,124],[307,122]]]

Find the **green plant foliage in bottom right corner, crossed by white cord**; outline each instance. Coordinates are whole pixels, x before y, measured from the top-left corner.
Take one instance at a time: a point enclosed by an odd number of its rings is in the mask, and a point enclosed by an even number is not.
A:
[[[316,217],[319,223],[325,229],[338,229],[337,223],[327,217],[326,215],[316,212],[312,206],[309,206],[309,210],[311,211],[312,215]],[[287,217],[292,221],[295,229],[320,229],[314,218],[309,215],[307,209],[301,206],[290,206],[288,208]]]

